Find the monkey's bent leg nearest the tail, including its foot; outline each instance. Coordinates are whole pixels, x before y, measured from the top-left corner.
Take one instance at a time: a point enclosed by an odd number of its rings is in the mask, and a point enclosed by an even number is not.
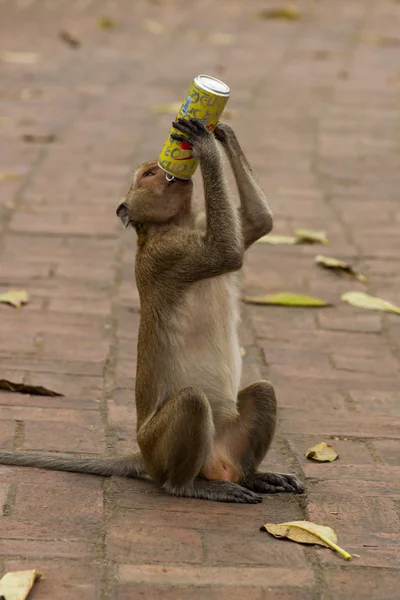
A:
[[[229,481],[200,477],[212,453],[214,425],[206,395],[186,387],[173,396],[138,432],[150,474],[173,496],[256,504],[262,498]]]

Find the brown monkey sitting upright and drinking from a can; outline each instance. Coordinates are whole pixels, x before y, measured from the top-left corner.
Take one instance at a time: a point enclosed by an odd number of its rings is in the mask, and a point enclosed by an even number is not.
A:
[[[239,391],[237,271],[245,250],[272,229],[265,196],[233,130],[215,136],[179,119],[175,140],[189,141],[204,182],[205,216],[192,208],[192,181],[168,182],[156,162],[142,165],[117,215],[138,234],[141,300],[136,377],[141,453],[78,459],[0,452],[0,463],[151,477],[167,493],[258,503],[259,493],[302,493],[293,475],[259,473],[275,432],[272,385]],[[240,209],[227,189],[219,140],[236,179]]]

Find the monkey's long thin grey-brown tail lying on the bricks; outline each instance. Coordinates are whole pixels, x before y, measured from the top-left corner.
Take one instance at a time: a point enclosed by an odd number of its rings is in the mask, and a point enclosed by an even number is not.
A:
[[[146,477],[146,468],[140,454],[123,458],[78,458],[63,454],[38,454],[0,450],[0,464],[18,467],[36,467],[53,471],[69,471],[111,477]]]

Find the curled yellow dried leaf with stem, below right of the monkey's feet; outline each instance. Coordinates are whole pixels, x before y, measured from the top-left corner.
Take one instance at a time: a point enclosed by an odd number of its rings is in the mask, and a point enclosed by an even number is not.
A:
[[[316,525],[310,521],[290,521],[288,523],[266,523],[261,527],[277,538],[288,538],[299,544],[318,544],[336,550],[349,560],[351,555],[337,545],[336,533],[331,527]]]

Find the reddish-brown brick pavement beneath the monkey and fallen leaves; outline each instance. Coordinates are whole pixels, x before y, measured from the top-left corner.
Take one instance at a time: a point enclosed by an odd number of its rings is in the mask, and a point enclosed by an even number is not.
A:
[[[298,22],[262,21],[268,0],[2,0],[0,376],[61,398],[0,393],[4,448],[98,456],[132,450],[138,295],[135,242],[114,216],[132,167],[156,156],[181,100],[209,72],[232,87],[233,122],[271,199],[275,232],[321,228],[369,291],[400,303],[400,4],[299,1]],[[96,27],[101,16],[116,28]],[[154,23],[158,26],[158,34]],[[147,25],[146,25],[147,22]],[[147,27],[147,29],[146,29]],[[58,39],[66,29],[78,49]],[[232,37],[211,44],[209,32]],[[215,39],[215,38],[214,38]],[[217,36],[218,41],[218,36]],[[26,133],[54,134],[51,144]],[[325,250],[325,249],[324,249]],[[250,292],[297,290],[326,309],[245,307],[244,380],[276,385],[268,465],[294,470],[304,497],[259,506],[176,499],[151,484],[0,467],[0,563],[35,566],[32,600],[394,600],[400,560],[400,320],[338,301],[362,285],[317,269],[320,248],[258,245]],[[304,458],[334,440],[340,459]],[[279,542],[266,521],[333,526],[359,555]]]

